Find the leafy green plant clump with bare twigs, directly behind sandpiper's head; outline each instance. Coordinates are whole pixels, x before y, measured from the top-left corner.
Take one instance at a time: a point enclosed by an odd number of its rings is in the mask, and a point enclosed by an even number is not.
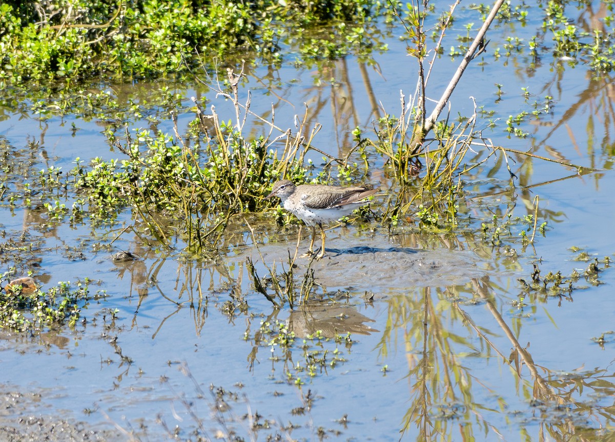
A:
[[[169,231],[180,232],[189,249],[206,251],[215,246],[234,215],[260,211],[271,182],[287,176],[306,179],[304,155],[317,130],[304,134],[290,130],[247,139],[242,133],[251,115],[249,97],[239,103],[240,76],[229,70],[231,92],[218,94],[236,107],[235,123],[221,121],[215,107],[209,113],[194,99],[194,120],[183,136],[173,114],[175,137],[141,131],[125,144],[116,142],[127,159],[100,161],[73,169],[77,191],[92,210],[111,213],[130,205],[146,222],[148,235],[170,245]],[[240,108],[243,107],[243,114]],[[274,123],[270,122],[272,128]]]

